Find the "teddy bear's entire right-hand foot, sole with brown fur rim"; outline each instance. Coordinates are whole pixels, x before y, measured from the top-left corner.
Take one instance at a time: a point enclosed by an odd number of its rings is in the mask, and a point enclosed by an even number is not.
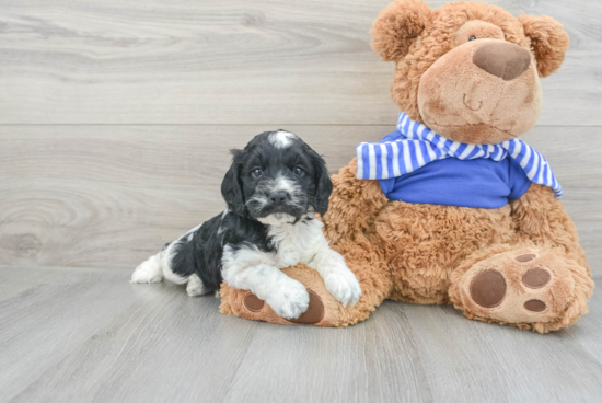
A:
[[[587,313],[593,283],[558,250],[493,254],[473,264],[450,289],[466,316],[546,333]]]

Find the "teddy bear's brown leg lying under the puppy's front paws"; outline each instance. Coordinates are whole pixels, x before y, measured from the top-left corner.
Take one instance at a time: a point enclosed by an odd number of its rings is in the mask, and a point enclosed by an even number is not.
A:
[[[354,307],[344,308],[324,286],[323,279],[311,267],[299,264],[282,269],[285,274],[305,286],[310,293],[310,307],[300,318],[286,320],[278,316],[263,300],[246,290],[239,290],[223,284],[220,290],[220,311],[224,314],[254,321],[279,324],[304,323],[315,326],[343,327],[366,320],[389,295],[391,279],[382,269],[381,256],[367,240],[341,241],[337,247],[347,266],[360,283],[362,296]]]

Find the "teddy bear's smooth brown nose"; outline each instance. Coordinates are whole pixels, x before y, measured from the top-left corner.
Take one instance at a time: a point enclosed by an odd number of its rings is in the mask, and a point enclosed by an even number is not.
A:
[[[489,74],[510,81],[529,68],[531,54],[519,45],[487,41],[474,50],[473,62]]]

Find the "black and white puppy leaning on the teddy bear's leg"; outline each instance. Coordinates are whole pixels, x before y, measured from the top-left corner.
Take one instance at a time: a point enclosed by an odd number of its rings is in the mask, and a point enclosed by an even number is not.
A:
[[[164,278],[187,283],[189,296],[219,290],[222,280],[252,291],[286,319],[309,306],[305,287],[280,268],[305,263],[344,306],[361,289],[340,254],[328,246],[323,223],[333,184],[324,160],[296,135],[266,131],[233,150],[221,185],[228,209],[149,257],[132,283]]]

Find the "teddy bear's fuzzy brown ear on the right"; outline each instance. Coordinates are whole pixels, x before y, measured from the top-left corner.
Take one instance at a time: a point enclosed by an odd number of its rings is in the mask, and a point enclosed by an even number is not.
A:
[[[558,70],[565,60],[569,41],[563,24],[547,15],[522,14],[519,22],[524,28],[524,35],[531,39],[540,77],[547,77]]]

